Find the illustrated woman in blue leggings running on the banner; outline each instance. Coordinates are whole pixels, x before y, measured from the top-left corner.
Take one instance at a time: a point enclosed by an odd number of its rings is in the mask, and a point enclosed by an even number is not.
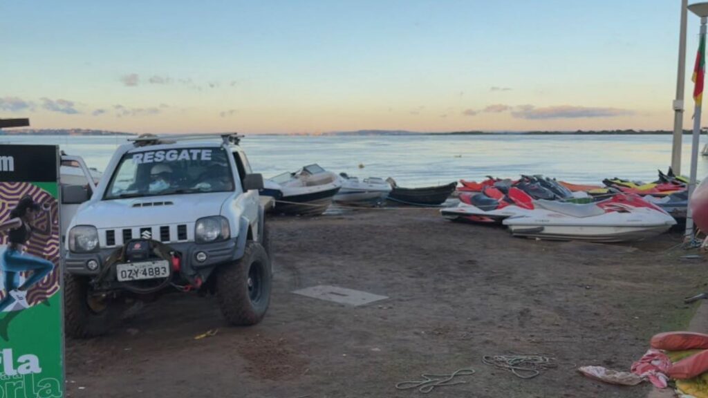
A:
[[[44,229],[38,229],[35,221],[40,212],[47,212],[47,223]],[[16,207],[11,210],[9,219],[0,224],[0,232],[7,234],[8,246],[0,258],[0,269],[5,276],[4,289],[6,296],[0,301],[0,312],[14,302],[21,308],[28,308],[27,290],[49,275],[54,269],[51,261],[28,254],[27,244],[30,237],[36,234],[49,237],[52,234],[52,212],[47,204],[35,203],[29,195],[23,196]],[[32,274],[19,284],[19,274]]]

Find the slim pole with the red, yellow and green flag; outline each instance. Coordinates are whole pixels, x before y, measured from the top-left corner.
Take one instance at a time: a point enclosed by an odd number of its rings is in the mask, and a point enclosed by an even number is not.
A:
[[[696,13],[698,16],[701,17],[701,30],[700,30],[700,37],[699,37],[699,42],[704,43],[705,38],[706,38],[706,24],[708,23],[708,3],[700,3],[700,4],[692,4],[692,6],[689,7],[690,10],[694,13]],[[700,61],[697,61],[697,66],[700,67],[698,70],[695,71],[697,74],[701,74],[700,76],[696,76],[695,82],[698,84],[699,81],[703,80],[703,76],[705,74],[705,69],[703,66],[704,62],[704,57],[705,54],[701,53],[701,51],[704,51],[704,48],[701,49],[699,46],[699,55],[697,57],[702,58]],[[694,92],[694,98],[695,98],[695,92]],[[694,239],[694,234],[693,234],[693,215],[691,211],[691,195],[693,194],[693,190],[696,187],[696,174],[697,174],[697,169],[698,169],[698,145],[700,142],[700,132],[701,132],[701,105],[702,105],[702,91],[699,93],[700,97],[698,97],[697,101],[695,101],[695,108],[694,108],[694,113],[693,113],[693,142],[691,145],[691,176],[690,176],[690,181],[688,183],[688,206],[686,210],[686,231],[685,231],[685,241],[687,243],[692,243]]]

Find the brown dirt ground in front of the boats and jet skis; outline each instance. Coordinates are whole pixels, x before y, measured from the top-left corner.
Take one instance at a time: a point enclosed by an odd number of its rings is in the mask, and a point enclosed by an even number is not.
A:
[[[72,397],[420,397],[397,382],[473,368],[431,397],[644,397],[578,365],[628,370],[659,331],[681,329],[708,290],[704,260],[634,245],[512,238],[436,210],[271,220],[275,286],[258,326],[224,324],[213,298],[170,295],[98,339],[67,341]],[[385,295],[360,307],[292,294],[334,285]],[[216,336],[195,340],[208,329]],[[530,380],[481,363],[557,358]]]

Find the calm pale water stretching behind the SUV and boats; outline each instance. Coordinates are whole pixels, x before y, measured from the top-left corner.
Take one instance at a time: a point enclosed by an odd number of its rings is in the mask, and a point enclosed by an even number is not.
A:
[[[702,137],[701,145],[705,137]],[[103,170],[125,137],[1,137],[0,142],[59,144]],[[690,165],[690,136],[683,137],[684,174]],[[251,166],[264,176],[318,163],[354,176],[392,176],[404,186],[448,183],[459,178],[544,174],[578,183],[606,177],[653,181],[667,169],[670,135],[491,135],[292,137],[250,135],[241,142]],[[363,165],[363,169],[359,165]],[[698,177],[708,174],[708,157],[698,161]]]

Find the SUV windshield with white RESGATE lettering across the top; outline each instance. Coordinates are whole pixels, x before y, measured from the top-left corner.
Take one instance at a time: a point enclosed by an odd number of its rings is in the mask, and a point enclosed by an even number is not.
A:
[[[234,190],[222,148],[182,148],[125,154],[104,199]]]

